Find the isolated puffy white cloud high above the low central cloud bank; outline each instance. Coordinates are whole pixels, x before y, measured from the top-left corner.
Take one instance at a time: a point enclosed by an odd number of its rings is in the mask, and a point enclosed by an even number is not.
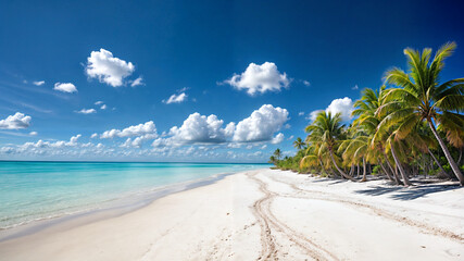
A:
[[[290,79],[286,73],[280,74],[275,63],[265,62],[261,65],[250,63],[247,70],[240,75],[234,74],[224,83],[234,86],[239,90],[246,90],[250,96],[258,92],[279,91],[281,88],[287,88]]]

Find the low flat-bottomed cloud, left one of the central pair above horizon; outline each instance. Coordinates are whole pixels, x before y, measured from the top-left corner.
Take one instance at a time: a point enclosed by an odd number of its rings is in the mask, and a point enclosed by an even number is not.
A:
[[[222,127],[223,123],[224,121],[214,114],[206,117],[196,112],[190,114],[180,127],[172,127],[170,134],[175,141],[186,144],[224,142],[234,132],[234,123],[229,123],[225,128]]]

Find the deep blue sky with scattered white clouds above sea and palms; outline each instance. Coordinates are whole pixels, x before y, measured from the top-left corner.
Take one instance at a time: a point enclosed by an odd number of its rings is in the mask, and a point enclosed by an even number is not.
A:
[[[462,1],[0,2],[0,160],[266,162],[314,112],[348,124]]]

